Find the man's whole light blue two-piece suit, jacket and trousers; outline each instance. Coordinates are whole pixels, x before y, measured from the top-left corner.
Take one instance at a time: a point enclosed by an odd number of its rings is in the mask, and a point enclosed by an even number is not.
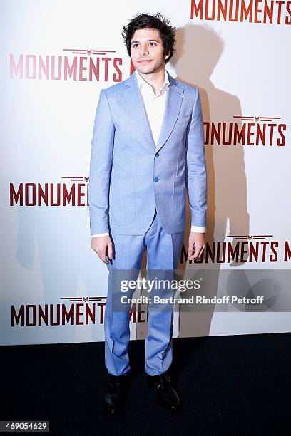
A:
[[[105,360],[123,375],[128,360],[128,313],[112,305],[114,270],[131,279],[147,250],[147,269],[177,267],[188,192],[191,224],[206,226],[207,181],[198,88],[168,74],[165,115],[158,144],[150,130],[136,72],[101,90],[94,120],[88,203],[91,235],[109,232],[115,258],[108,264]],[[150,273],[151,274],[151,273]],[[167,276],[168,278],[168,276]],[[118,290],[117,290],[118,291]],[[133,292],[132,292],[133,294]],[[131,295],[132,295],[131,294]],[[165,296],[173,295],[165,291]],[[128,295],[127,295],[128,296]],[[173,312],[150,311],[146,372],[157,375],[172,361]]]

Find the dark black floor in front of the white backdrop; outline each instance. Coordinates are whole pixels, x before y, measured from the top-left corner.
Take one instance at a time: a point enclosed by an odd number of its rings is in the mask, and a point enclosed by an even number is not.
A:
[[[49,420],[62,436],[290,433],[291,333],[174,339],[176,413],[148,390],[144,345],[130,343],[133,385],[119,416],[102,408],[104,343],[1,347],[0,419]]]

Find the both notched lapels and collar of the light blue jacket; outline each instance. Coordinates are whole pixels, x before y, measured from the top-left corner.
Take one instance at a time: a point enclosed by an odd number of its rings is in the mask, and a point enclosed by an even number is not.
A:
[[[141,133],[146,137],[150,147],[158,151],[165,144],[166,140],[172,132],[175,122],[178,118],[180,107],[183,99],[183,89],[178,88],[176,81],[172,76],[169,76],[169,85],[167,95],[165,99],[165,113],[163,117],[162,127],[160,129],[160,136],[158,138],[158,144],[155,146],[153,134],[150,130],[150,124],[148,123],[148,116],[146,114],[146,108],[143,104],[143,97],[138,88],[138,81],[136,79],[136,71],[126,81],[126,91],[124,93],[124,101],[128,110],[131,113],[133,120],[133,127],[141,130]]]

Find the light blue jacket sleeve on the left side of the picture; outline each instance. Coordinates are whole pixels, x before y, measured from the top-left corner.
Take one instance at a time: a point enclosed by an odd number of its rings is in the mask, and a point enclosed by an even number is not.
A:
[[[91,235],[107,233],[108,192],[115,127],[106,90],[101,90],[93,126],[88,187]]]

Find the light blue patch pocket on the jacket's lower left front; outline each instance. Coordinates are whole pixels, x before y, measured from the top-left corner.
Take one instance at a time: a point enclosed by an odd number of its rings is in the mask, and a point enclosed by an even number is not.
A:
[[[133,177],[111,177],[109,216],[114,224],[130,224],[135,217],[135,196]]]

